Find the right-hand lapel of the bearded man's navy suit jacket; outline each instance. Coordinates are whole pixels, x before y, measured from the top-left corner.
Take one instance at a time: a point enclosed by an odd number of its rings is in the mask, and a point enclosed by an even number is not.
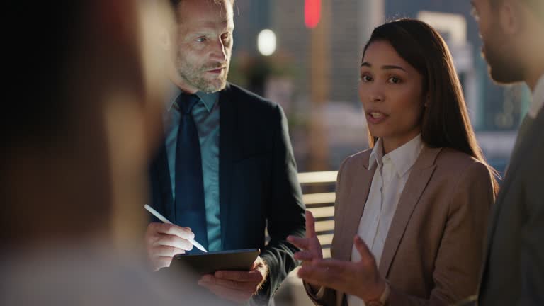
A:
[[[232,166],[234,132],[236,130],[236,106],[232,101],[229,84],[220,92],[220,137],[219,137],[219,202],[221,221],[221,245],[227,246],[227,222],[229,222],[230,198],[232,193]]]

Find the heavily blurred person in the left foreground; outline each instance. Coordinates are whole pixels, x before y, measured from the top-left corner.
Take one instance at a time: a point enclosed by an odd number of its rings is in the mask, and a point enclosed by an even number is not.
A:
[[[147,4],[6,8],[0,305],[217,305],[154,279],[137,247],[164,90],[150,40],[169,17]]]

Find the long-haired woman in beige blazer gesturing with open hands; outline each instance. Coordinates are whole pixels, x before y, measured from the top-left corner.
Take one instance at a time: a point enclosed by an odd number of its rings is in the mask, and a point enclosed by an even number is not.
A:
[[[426,23],[373,30],[359,96],[372,149],[336,183],[331,260],[307,212],[298,276],[317,305],[448,305],[477,291],[497,182],[470,125],[453,60]]]

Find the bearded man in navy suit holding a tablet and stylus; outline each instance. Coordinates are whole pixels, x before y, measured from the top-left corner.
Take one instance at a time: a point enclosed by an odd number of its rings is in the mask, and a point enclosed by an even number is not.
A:
[[[152,206],[174,225],[151,222],[146,242],[155,270],[199,252],[193,237],[208,251],[261,249],[251,271],[198,280],[227,300],[261,304],[297,265],[285,239],[304,236],[305,208],[282,108],[227,82],[233,2],[171,0],[175,23],[163,43],[171,90],[150,181]]]

